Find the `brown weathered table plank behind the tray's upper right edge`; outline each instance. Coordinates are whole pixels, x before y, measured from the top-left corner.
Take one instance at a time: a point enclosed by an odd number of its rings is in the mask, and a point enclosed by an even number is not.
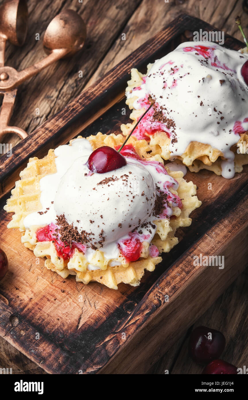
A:
[[[244,31],[248,34],[248,18],[247,14],[242,10],[242,0],[228,0],[228,6],[226,0],[210,0],[208,2],[203,0],[182,0],[169,1],[168,3],[161,0],[152,2],[143,0],[122,30],[122,33],[126,35],[126,40],[122,40],[121,34],[118,36],[86,87],[96,82],[99,77],[102,77],[118,62],[128,56],[131,51],[141,46],[171,20],[177,18],[181,12],[196,16],[209,22],[209,24],[218,26],[218,30],[223,30],[239,40],[242,37],[235,23],[235,17],[240,15]]]

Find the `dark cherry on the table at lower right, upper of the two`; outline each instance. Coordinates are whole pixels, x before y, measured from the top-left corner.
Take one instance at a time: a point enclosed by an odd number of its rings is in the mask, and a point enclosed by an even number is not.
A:
[[[189,338],[189,356],[196,362],[207,364],[219,358],[225,343],[224,335],[218,330],[198,326]]]

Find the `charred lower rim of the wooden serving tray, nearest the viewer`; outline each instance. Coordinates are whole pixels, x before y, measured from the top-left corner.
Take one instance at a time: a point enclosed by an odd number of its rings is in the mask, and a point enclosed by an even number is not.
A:
[[[224,214],[218,222],[205,232],[205,236],[209,241],[209,254],[215,254],[216,251],[221,251],[223,248],[223,242],[220,240],[213,241],[211,240],[211,237],[216,229],[221,229],[222,232],[224,232],[223,222],[226,221],[226,216],[230,221],[230,230],[235,231],[235,237],[240,234],[240,232],[242,234],[245,229],[247,230],[248,208],[245,210],[243,209],[243,204],[245,202],[248,202],[248,185],[246,185],[246,187],[240,192],[240,202],[238,206],[234,207],[228,214]],[[244,222],[243,226],[241,224],[236,224],[235,222],[237,213],[238,215],[242,215]],[[189,268],[189,259],[192,258],[192,254],[196,253],[195,250],[202,241],[203,237],[199,238],[199,240],[186,252],[180,255],[174,266],[161,274],[152,288],[150,288],[144,298],[129,314],[128,318],[124,318],[122,322],[120,322],[117,327],[118,329],[106,332],[104,339],[100,340],[100,343],[95,344],[94,347],[91,348],[91,350],[93,350],[91,354],[85,354],[85,356],[83,356],[80,352],[81,335],[78,336],[78,343],[72,351],[68,350],[68,347],[61,348],[60,343],[54,342],[45,332],[41,333],[39,341],[33,340],[35,332],[37,332],[37,327],[27,322],[20,313],[16,312],[13,308],[2,301],[0,301],[0,335],[50,374],[78,374],[79,370],[82,370],[82,372],[86,374],[94,374],[99,372],[101,373],[102,368],[103,370],[104,368],[107,368],[108,370],[111,360],[114,360],[115,356],[119,356],[119,350],[125,352],[130,342],[133,346],[133,341],[135,342],[136,340],[136,337],[134,336],[139,336],[142,329],[149,321],[151,324],[152,321],[150,318],[155,315],[156,318],[161,318],[163,312],[166,312],[166,307],[168,307],[167,304],[169,303],[166,304],[162,301],[165,278],[167,280],[173,279],[172,276],[177,267],[183,265],[186,274],[185,281],[187,281],[187,285],[190,284],[190,275],[192,274],[192,271],[190,271],[191,268]],[[228,244],[226,246],[228,247]],[[241,267],[239,266],[239,268]],[[234,275],[238,274],[237,270],[238,268],[233,269]],[[199,268],[194,273],[200,276],[201,274],[204,274],[204,270]],[[171,286],[171,293],[169,293],[169,295],[171,298],[172,296],[173,298],[177,298],[177,296],[180,296],[179,292],[179,288],[173,285]],[[214,293],[212,293],[212,295],[215,296]],[[125,330],[128,335],[125,342],[120,338],[123,330]],[[25,335],[23,332],[25,332]],[[143,332],[142,336],[147,336],[147,334],[148,330],[146,329],[146,332]],[[72,344],[76,344],[73,343],[75,338],[69,338],[68,344],[70,344],[70,340]],[[144,341],[144,337],[142,340]],[[138,338],[138,342],[140,341],[141,336]],[[39,345],[37,344],[38,342]],[[138,344],[136,344],[136,346],[138,346]],[[77,348],[79,351],[77,351]]]

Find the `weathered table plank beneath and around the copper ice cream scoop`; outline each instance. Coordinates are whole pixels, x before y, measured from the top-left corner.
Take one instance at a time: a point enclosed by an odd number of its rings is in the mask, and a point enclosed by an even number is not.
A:
[[[2,2],[0,2],[2,3]],[[130,18],[140,0],[78,0],[28,1],[29,30],[23,48],[6,46],[6,65],[22,70],[43,58],[45,30],[59,12],[71,8],[79,13],[87,24],[87,40],[81,52],[73,58],[59,60],[20,86],[12,124],[28,133],[40,126],[47,118],[75,98],[94,73],[110,44]],[[111,29],[108,29],[111,24]],[[40,40],[35,39],[39,33]],[[83,77],[79,77],[79,71]],[[39,115],[35,109],[39,108]],[[16,144],[19,138],[8,136],[8,142]]]

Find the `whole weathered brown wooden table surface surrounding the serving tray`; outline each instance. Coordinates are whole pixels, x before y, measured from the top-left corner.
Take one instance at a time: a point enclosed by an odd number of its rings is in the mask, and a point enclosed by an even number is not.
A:
[[[84,50],[72,59],[61,60],[18,89],[18,98],[12,116],[12,125],[20,126],[28,133],[65,106],[84,88],[103,76],[130,52],[138,48],[168,22],[184,11],[197,16],[241,40],[235,17],[242,17],[248,33],[248,16],[242,11],[242,0],[35,0],[28,1],[29,30],[26,44],[6,48],[6,65],[16,69],[26,68],[44,56],[42,39],[49,21],[61,10],[76,10],[87,23],[87,42]],[[36,40],[39,33],[40,40]],[[125,35],[123,35],[125,34]],[[80,74],[79,71],[83,73]],[[81,77],[82,76],[82,77]],[[6,142],[18,142],[9,136]],[[234,365],[248,362],[247,273],[224,292],[213,306],[195,323],[220,329],[227,344],[222,356]],[[152,367],[150,373],[174,374],[201,373],[201,367],[187,356],[187,339],[182,337]],[[45,373],[18,350],[0,338],[0,367],[8,365],[13,373]]]

